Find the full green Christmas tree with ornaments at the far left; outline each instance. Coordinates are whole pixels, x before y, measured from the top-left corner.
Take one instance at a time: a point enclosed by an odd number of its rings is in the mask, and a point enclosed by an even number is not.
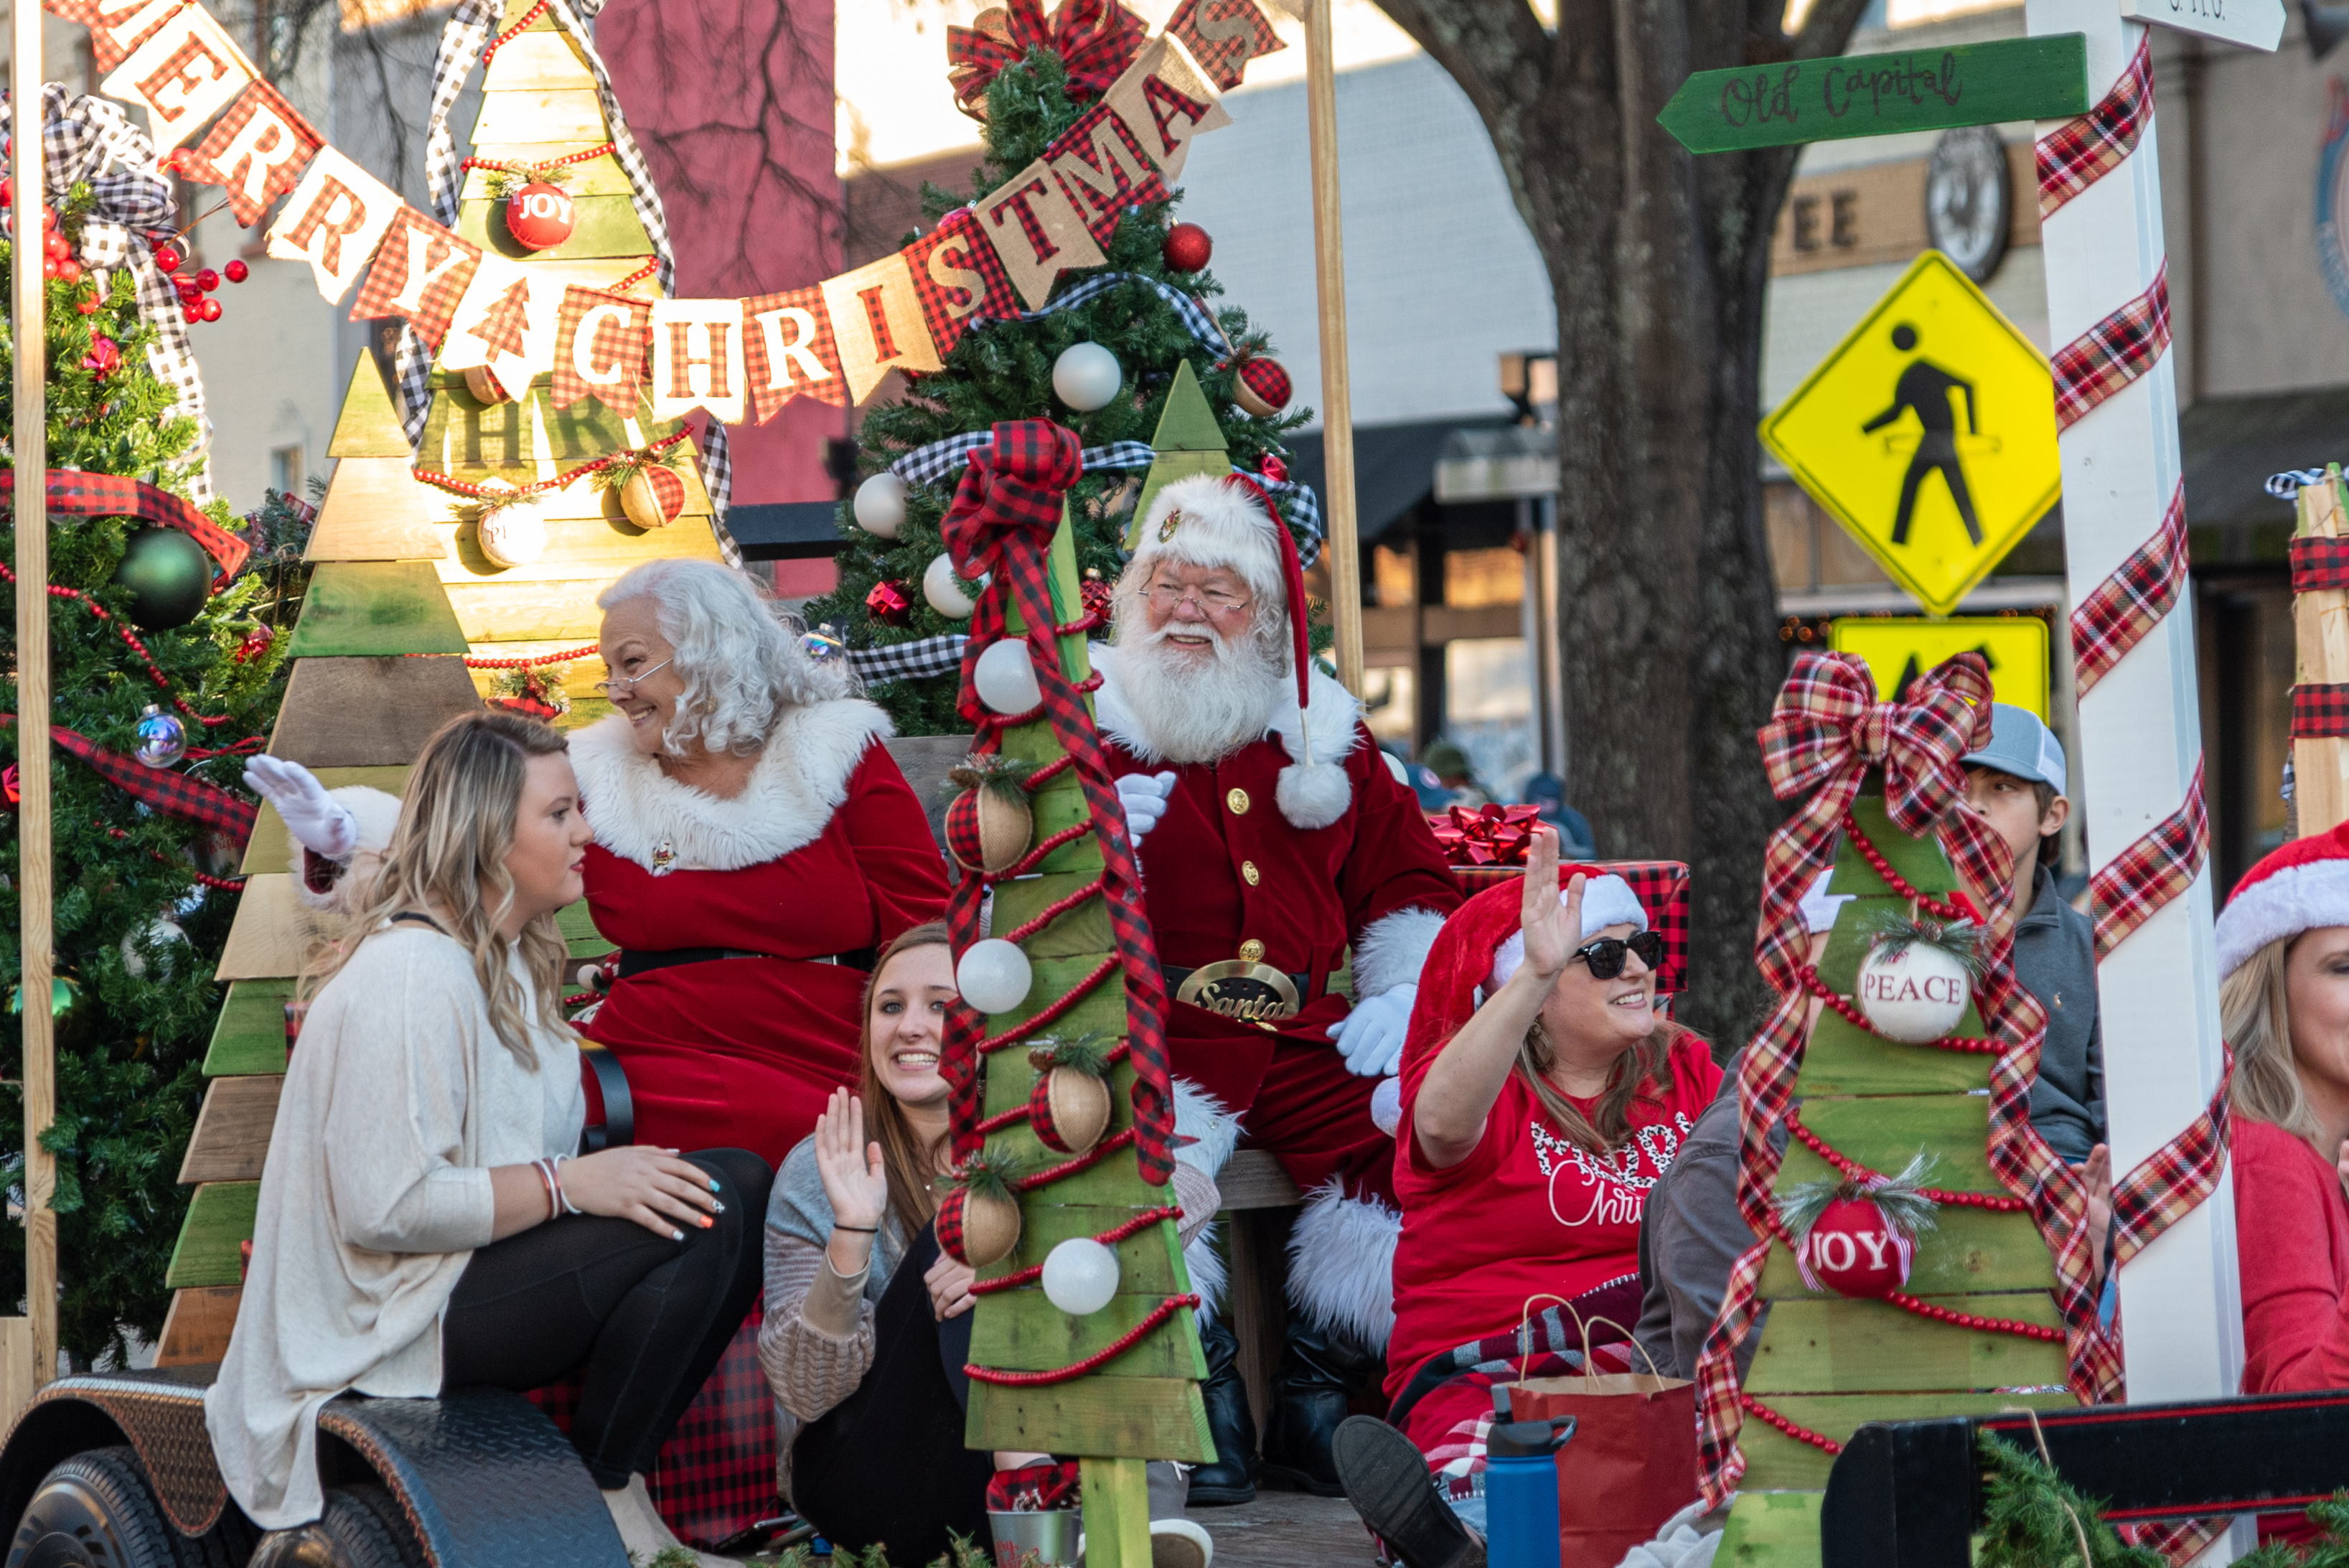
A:
[[[52,89],[59,115],[89,99]],[[96,164],[52,164],[52,200],[73,256],[117,242],[117,209],[143,200],[132,244],[167,228],[162,181]],[[14,192],[12,192],[14,195]],[[38,204],[19,207],[26,223]],[[115,235],[106,230],[115,225]],[[0,251],[7,251],[0,244]],[[59,270],[47,284],[49,660],[56,920],[56,1155],[59,1340],[80,1361],[122,1359],[124,1336],[153,1340],[169,1303],[164,1263],[188,1207],[174,1185],[197,1120],[197,1063],[221,1007],[214,960],[235,918],[237,850],[251,805],[235,789],[242,756],[261,746],[284,688],[277,627],[298,603],[298,570],[244,570],[247,540],[228,509],[188,505],[202,477],[200,425],[183,390],[157,378],[150,345],[179,305],[150,298],[122,265]],[[5,354],[14,359],[14,336]],[[7,401],[0,378],[0,401]],[[0,413],[0,427],[14,415]],[[80,472],[70,472],[80,469]],[[103,479],[115,477],[115,479]],[[12,474],[14,481],[14,474]],[[298,526],[275,516],[265,530]],[[12,552],[14,542],[0,547]],[[272,556],[275,552],[263,552]],[[14,669],[14,613],[0,657]],[[14,699],[9,709],[14,711]],[[0,761],[14,758],[0,728]],[[228,789],[223,789],[228,786]],[[14,789],[9,789],[14,807]],[[14,819],[0,822],[0,972],[19,967]],[[12,993],[9,1009],[21,998]],[[0,1054],[7,1160],[21,1162],[16,1045]],[[0,1298],[23,1291],[23,1230],[5,1232]]]

